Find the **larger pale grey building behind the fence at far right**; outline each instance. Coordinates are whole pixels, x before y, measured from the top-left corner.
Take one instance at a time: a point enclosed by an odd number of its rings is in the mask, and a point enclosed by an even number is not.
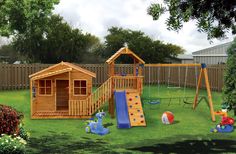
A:
[[[232,42],[220,44],[214,47],[202,49],[192,53],[194,63],[224,64],[227,61],[227,49]]]

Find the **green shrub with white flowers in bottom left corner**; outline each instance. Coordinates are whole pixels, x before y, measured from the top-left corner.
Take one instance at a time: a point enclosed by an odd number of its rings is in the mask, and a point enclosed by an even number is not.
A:
[[[24,154],[26,141],[21,137],[2,134],[0,137],[0,154]]]

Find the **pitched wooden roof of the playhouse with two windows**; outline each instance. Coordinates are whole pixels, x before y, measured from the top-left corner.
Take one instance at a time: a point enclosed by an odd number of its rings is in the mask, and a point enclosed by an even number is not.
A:
[[[56,70],[56,71],[53,71],[53,72],[49,72],[51,69],[53,68],[56,68],[60,65],[64,65],[64,66],[67,66],[68,68],[65,68],[65,69],[61,69],[61,70]],[[58,75],[58,74],[62,74],[62,73],[65,73],[65,72],[70,72],[72,71],[72,69],[75,69],[77,71],[80,71],[80,72],[83,72],[89,76],[92,76],[92,77],[96,77],[96,74],[93,73],[93,72],[90,72],[86,69],[83,69],[75,64],[72,64],[72,63],[68,63],[68,62],[61,62],[61,63],[58,63],[58,64],[55,64],[53,66],[50,66],[46,69],[43,69],[39,72],[36,72],[34,74],[31,74],[29,75],[29,77],[33,80],[37,80],[37,79],[42,79],[42,78],[45,78],[45,77],[50,77],[50,76],[54,76],[54,75]]]

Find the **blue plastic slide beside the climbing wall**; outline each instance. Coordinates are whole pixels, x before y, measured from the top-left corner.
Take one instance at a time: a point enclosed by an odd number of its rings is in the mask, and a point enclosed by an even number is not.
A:
[[[115,91],[116,119],[118,128],[130,128],[125,91]]]

